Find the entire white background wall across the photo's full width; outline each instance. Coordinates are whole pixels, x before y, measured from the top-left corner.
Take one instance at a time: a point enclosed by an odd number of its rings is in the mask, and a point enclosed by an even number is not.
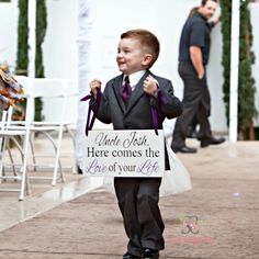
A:
[[[87,0],[86,0],[87,1]],[[79,0],[47,0],[47,33],[43,44],[45,75],[48,78],[78,77],[78,2]],[[92,76],[105,82],[117,75],[116,46],[122,32],[146,27],[156,33],[161,43],[161,54],[153,71],[171,79],[176,94],[182,97],[182,81],[177,72],[178,44],[182,24],[189,10],[200,0],[89,0],[92,22],[90,65]],[[18,0],[0,3],[0,61],[12,67],[16,59]],[[252,72],[259,86],[259,3],[251,3],[254,50],[257,56]],[[137,7],[137,8],[136,8]],[[209,64],[209,87],[212,97],[212,128],[226,131],[223,103],[222,35],[219,25],[212,31],[212,49]],[[88,88],[88,82],[86,82]],[[259,88],[259,87],[258,87]],[[256,97],[259,109],[259,93]],[[71,109],[77,111],[77,103]],[[50,114],[45,114],[50,116]],[[173,122],[170,122],[172,125]]]

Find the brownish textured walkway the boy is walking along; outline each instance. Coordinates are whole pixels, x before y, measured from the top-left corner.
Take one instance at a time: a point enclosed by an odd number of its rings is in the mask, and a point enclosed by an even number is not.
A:
[[[160,258],[258,259],[259,143],[225,143],[178,157],[193,189],[160,199]],[[89,180],[78,179],[77,190],[80,181]],[[0,259],[121,259],[127,238],[114,195],[81,188],[76,199],[0,232]]]

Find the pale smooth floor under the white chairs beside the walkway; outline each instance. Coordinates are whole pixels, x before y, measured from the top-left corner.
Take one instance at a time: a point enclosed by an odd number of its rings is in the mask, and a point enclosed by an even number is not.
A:
[[[63,143],[63,150],[72,150],[72,142],[66,137]],[[36,151],[47,151],[50,154],[49,144],[42,138],[35,139]],[[19,154],[14,155],[18,156]],[[30,180],[31,195],[25,196],[23,201],[19,201],[19,192],[0,191],[0,230],[9,228],[19,222],[25,221],[42,212],[59,205],[63,202],[72,200],[83,193],[97,189],[102,179],[86,179],[82,174],[72,173],[74,156],[66,156],[61,162],[67,169],[64,172],[65,182],[52,185],[52,180]],[[41,162],[43,159],[41,159]],[[44,160],[44,162],[47,162]],[[68,169],[69,168],[69,169]],[[8,172],[7,172],[8,173]],[[9,173],[12,173],[11,171]],[[32,176],[32,172],[30,172]],[[35,173],[33,173],[35,174]],[[45,174],[52,176],[44,171],[36,172],[42,177]],[[20,181],[2,181],[0,189],[20,188]]]

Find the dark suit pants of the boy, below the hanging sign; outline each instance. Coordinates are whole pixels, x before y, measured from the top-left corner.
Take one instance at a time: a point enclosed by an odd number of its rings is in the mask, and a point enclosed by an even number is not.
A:
[[[127,251],[140,256],[143,248],[161,250],[164,223],[158,206],[161,178],[115,178],[114,187],[124,228]]]

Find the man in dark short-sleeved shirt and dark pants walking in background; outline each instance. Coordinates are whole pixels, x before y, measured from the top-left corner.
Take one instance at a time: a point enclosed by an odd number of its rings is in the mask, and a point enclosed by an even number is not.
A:
[[[174,153],[196,153],[185,145],[188,127],[196,116],[200,124],[201,147],[217,145],[225,138],[212,136],[209,116],[211,98],[206,81],[206,65],[211,46],[211,25],[207,21],[217,8],[217,0],[202,0],[198,12],[190,16],[182,30],[178,71],[184,83],[183,113],[178,117],[171,148]]]

